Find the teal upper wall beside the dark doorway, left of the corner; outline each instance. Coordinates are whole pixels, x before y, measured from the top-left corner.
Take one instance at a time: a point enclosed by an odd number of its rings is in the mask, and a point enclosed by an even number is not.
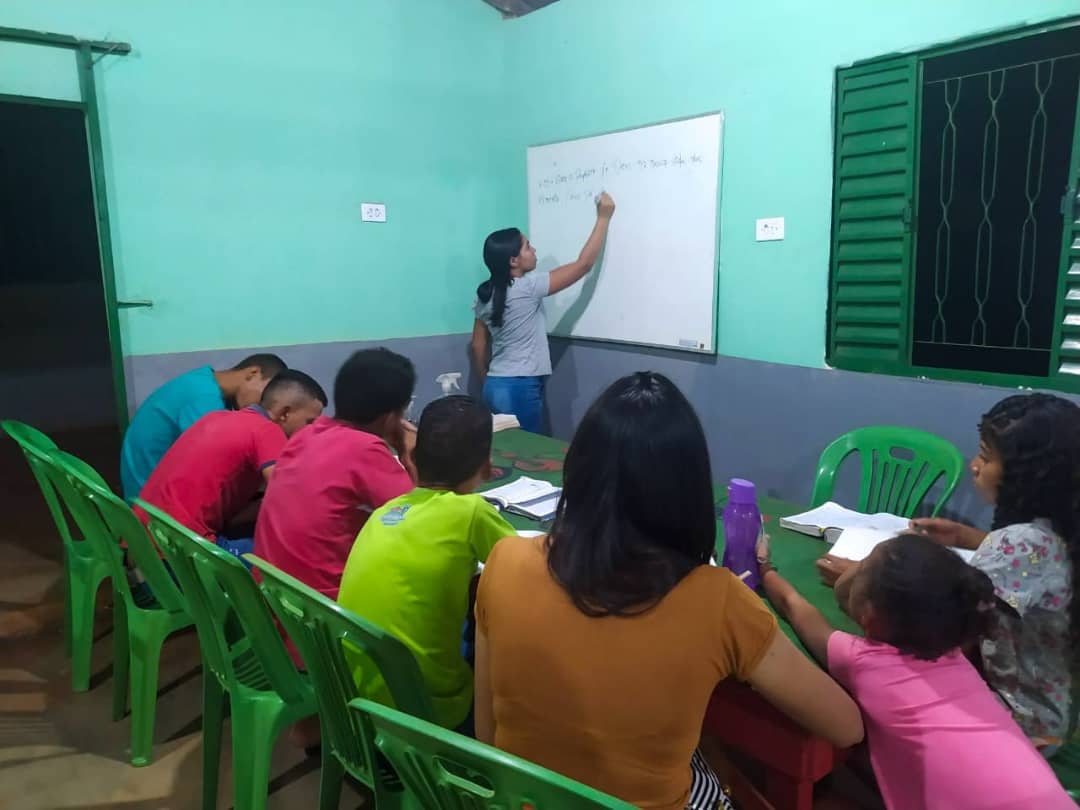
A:
[[[0,26],[134,48],[98,73],[117,288],[154,302],[121,314],[125,354],[471,327],[513,191],[480,0],[4,0]],[[0,92],[19,75],[69,85],[0,44]]]

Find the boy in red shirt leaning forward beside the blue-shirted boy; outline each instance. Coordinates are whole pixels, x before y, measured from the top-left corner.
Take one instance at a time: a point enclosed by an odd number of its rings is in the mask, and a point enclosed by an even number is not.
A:
[[[188,428],[165,453],[139,497],[238,556],[252,540],[221,537],[273,472],[287,438],[323,411],[326,393],[303,372],[284,370],[258,405],[215,410]],[[146,513],[136,508],[144,523]]]

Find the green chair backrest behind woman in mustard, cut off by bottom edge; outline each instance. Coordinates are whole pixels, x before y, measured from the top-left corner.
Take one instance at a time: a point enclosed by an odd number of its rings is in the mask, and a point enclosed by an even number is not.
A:
[[[424,810],[631,810],[613,796],[490,745],[447,731],[367,700],[350,711],[361,721],[365,744],[374,744],[401,778],[416,807]],[[375,804],[392,797],[382,773]],[[400,791],[400,788],[396,788]],[[381,793],[381,796],[380,796]],[[390,802],[388,802],[390,804]]]

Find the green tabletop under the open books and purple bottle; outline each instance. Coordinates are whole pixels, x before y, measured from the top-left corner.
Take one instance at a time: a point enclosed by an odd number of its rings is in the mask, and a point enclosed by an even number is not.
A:
[[[522,430],[509,430],[495,434],[491,449],[491,461],[496,470],[496,478],[485,488],[508,484],[523,475],[542,478],[553,484],[563,482],[563,461],[566,458],[567,444],[548,436],[526,433]],[[727,500],[726,485],[716,488],[716,558],[724,556],[724,525],[719,519],[723,504]],[[760,498],[761,514],[766,518],[766,529],[772,538],[772,558],[780,572],[814,605],[829,623],[837,630],[859,633],[859,626],[840,610],[833,595],[833,589],[827,588],[818,576],[814,561],[825,553],[827,546],[823,540],[788,531],[780,527],[780,518],[797,514],[801,510],[793,504],[774,498]],[[546,528],[536,521],[529,521],[516,515],[507,515],[516,529],[537,530]],[[787,622],[781,620],[780,626],[784,633],[804,651],[795,631]]]

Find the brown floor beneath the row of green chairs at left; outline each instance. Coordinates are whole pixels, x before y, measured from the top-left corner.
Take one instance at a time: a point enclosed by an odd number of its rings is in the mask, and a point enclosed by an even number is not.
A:
[[[55,435],[57,443],[116,476],[116,440]],[[127,760],[130,723],[113,723],[111,609],[98,604],[89,692],[72,693],[60,631],[59,541],[21,455],[0,436],[0,810],[195,810],[200,808],[202,672],[193,633],[166,643],[154,759]],[[232,806],[230,741],[218,807]],[[284,738],[274,752],[270,810],[314,808],[319,764]],[[346,785],[341,808],[363,805]]]

